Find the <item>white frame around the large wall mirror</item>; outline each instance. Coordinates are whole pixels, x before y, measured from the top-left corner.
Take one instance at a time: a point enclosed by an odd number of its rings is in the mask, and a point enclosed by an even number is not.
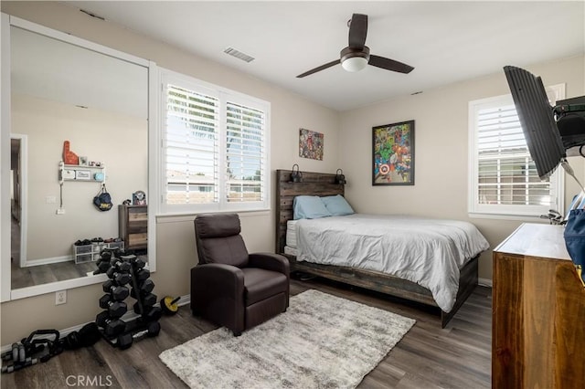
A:
[[[158,69],[153,61],[144,58],[134,57],[122,51],[115,50],[110,47],[101,46],[100,44],[90,42],[89,40],[80,37],[73,37],[69,34],[40,26],[36,23],[28,22],[16,16],[10,16],[2,13],[0,19],[1,39],[2,39],[2,58],[0,62],[0,81],[2,88],[0,90],[0,161],[2,162],[2,174],[0,181],[0,198],[2,204],[0,205],[0,294],[1,301],[10,301],[25,299],[27,297],[37,296],[45,293],[50,293],[58,290],[79,288],[87,285],[97,284],[105,281],[107,276],[99,274],[96,276],[67,279],[64,281],[51,282],[47,284],[40,284],[33,287],[22,289],[12,289],[11,267],[10,267],[10,136],[11,136],[11,121],[10,121],[10,100],[11,100],[11,85],[10,85],[10,27],[16,26],[35,32],[40,35],[58,39],[62,42],[69,43],[74,46],[87,48],[92,51],[118,58],[133,64],[142,66],[148,71],[148,152],[149,156],[155,155],[156,123],[158,122],[157,101],[158,95],[156,93],[156,85],[158,85]],[[148,192],[156,194],[156,177],[154,163],[149,163],[148,171]],[[154,197],[151,196],[154,200]],[[148,205],[148,267],[151,272],[156,271],[156,202],[149,202]]]

